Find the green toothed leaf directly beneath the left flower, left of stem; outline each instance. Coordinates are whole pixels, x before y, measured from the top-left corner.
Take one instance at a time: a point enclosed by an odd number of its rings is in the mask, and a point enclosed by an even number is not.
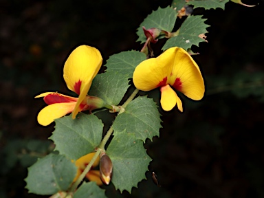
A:
[[[102,139],[102,121],[96,115],[79,113],[55,120],[55,130],[50,137],[56,144],[55,150],[70,159],[78,159],[94,151]]]

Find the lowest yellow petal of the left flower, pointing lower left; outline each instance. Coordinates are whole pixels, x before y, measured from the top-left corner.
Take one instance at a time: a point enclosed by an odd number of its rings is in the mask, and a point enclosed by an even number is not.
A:
[[[76,102],[50,104],[39,112],[38,122],[43,126],[51,124],[55,119],[74,111]]]

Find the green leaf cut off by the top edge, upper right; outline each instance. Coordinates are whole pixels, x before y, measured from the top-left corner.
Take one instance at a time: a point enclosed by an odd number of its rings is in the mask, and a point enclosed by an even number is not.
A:
[[[211,8],[225,8],[225,3],[228,3],[228,0],[195,0],[195,1],[188,1],[187,4],[194,5],[194,8],[205,8],[209,10]]]

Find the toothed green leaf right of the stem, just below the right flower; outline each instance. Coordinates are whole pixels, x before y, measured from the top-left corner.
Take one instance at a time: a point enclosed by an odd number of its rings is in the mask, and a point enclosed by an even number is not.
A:
[[[124,131],[135,134],[136,139],[146,138],[152,140],[152,137],[159,136],[161,128],[160,114],[157,110],[157,104],[151,98],[137,97],[130,102],[124,113],[119,114],[113,122],[114,134],[116,131]]]

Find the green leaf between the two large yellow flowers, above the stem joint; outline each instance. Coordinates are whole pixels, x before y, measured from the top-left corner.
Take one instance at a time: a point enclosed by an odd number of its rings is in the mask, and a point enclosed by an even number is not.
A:
[[[107,104],[119,104],[129,88],[129,78],[132,78],[135,67],[145,59],[146,55],[138,51],[110,56],[106,65],[107,72],[94,78],[89,95],[102,98]]]

